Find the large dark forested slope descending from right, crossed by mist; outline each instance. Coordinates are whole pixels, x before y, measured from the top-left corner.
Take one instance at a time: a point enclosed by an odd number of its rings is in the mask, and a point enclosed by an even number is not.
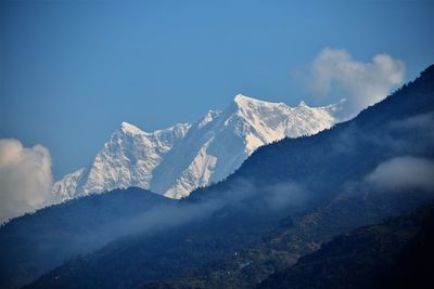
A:
[[[337,234],[432,200],[433,148],[430,67],[354,120],[261,147],[226,181],[150,208],[28,288],[254,287]]]

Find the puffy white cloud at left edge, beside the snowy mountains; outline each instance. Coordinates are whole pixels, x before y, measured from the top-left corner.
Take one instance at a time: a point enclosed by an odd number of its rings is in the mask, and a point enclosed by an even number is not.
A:
[[[41,146],[25,148],[0,140],[0,223],[52,201],[51,156]]]

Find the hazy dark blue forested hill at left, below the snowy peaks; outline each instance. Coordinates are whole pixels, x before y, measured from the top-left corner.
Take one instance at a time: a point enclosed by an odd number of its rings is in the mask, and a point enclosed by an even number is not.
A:
[[[100,248],[151,208],[171,203],[131,187],[15,218],[0,227],[0,288],[21,287],[76,254]]]

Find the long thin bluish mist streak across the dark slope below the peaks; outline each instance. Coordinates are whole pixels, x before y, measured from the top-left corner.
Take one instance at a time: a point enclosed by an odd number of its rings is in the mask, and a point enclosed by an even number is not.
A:
[[[248,208],[255,212],[302,208],[311,194],[301,184],[284,182],[258,186],[254,181],[240,179],[225,191],[213,192],[201,201],[178,201],[151,208],[128,220],[99,227],[86,236],[80,244],[101,246],[115,238],[131,234],[153,234],[155,232],[188,225],[215,214],[226,215],[225,208],[235,206],[242,211]],[[248,203],[248,206],[246,206]]]

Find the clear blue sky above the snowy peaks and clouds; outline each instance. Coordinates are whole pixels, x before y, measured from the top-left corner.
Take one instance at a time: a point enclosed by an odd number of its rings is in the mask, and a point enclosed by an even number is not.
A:
[[[122,121],[146,131],[195,121],[237,93],[296,105],[294,71],[324,48],[406,81],[434,63],[434,1],[1,1],[0,139],[78,169]]]

